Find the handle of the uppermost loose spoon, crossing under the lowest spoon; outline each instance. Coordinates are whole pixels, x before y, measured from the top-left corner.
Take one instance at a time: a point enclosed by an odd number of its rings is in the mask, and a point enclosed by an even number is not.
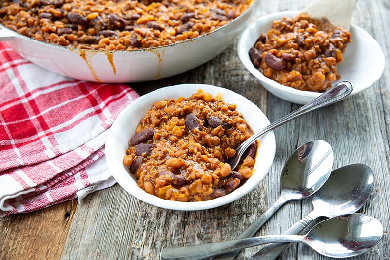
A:
[[[254,220],[254,222],[247,229],[245,229],[236,239],[250,238],[254,234],[256,234],[260,227],[264,225],[264,223],[267,222],[267,220],[269,220],[271,216],[275,214],[275,212],[284,203],[286,203],[286,201],[287,200],[283,196],[280,196],[279,199],[277,199],[275,203],[273,203],[273,205],[266,212],[264,212],[257,220]],[[213,259],[232,260],[236,255],[238,255],[239,252],[240,250],[231,251],[226,254],[218,255]]]

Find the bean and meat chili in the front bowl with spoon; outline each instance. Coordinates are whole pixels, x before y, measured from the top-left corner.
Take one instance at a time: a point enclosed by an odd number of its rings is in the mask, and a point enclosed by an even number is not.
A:
[[[235,110],[199,91],[155,102],[129,140],[123,163],[146,192],[166,200],[202,201],[227,195],[252,175],[256,144],[236,169],[226,160],[253,133]]]

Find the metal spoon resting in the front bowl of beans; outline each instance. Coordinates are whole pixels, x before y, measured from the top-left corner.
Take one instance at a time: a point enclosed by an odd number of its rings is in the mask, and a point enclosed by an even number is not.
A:
[[[324,92],[324,94],[322,94],[321,96],[310,101],[309,103],[298,108],[297,110],[291,112],[290,114],[282,117],[281,119],[274,121],[272,124],[264,127],[262,130],[254,133],[250,138],[248,138],[243,143],[241,143],[241,145],[236,149],[236,153],[234,157],[228,160],[228,163],[230,164],[231,168],[234,169],[235,167],[237,167],[245,150],[260,136],[275,129],[278,126],[290,122],[291,120],[303,116],[318,108],[322,108],[330,104],[336,103],[340,100],[343,100],[348,95],[351,94],[352,90],[353,90],[353,85],[351,82],[349,81],[339,82],[335,86],[331,87],[331,89]]]

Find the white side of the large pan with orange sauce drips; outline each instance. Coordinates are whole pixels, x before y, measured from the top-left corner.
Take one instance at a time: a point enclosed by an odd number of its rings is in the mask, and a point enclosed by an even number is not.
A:
[[[172,45],[136,51],[95,51],[34,40],[0,24],[0,41],[21,56],[58,74],[88,81],[126,83],[158,80],[193,69],[220,54],[248,24],[260,0],[210,34]]]

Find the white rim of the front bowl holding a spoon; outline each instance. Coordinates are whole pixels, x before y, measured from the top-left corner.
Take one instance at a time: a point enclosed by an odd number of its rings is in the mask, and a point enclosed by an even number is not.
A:
[[[177,89],[185,89],[183,93],[178,93]],[[126,190],[128,193],[133,195],[139,200],[142,200],[148,204],[165,208],[165,209],[171,209],[171,210],[183,210],[183,211],[192,211],[192,210],[204,210],[204,209],[211,209],[218,206],[222,206],[225,204],[228,204],[234,200],[237,200],[250,191],[252,191],[261,180],[264,179],[264,177],[267,175],[268,171],[270,170],[273,160],[276,153],[276,141],[273,131],[267,133],[263,137],[260,138],[261,144],[258,146],[257,155],[262,154],[264,157],[262,157],[261,164],[258,161],[255,163],[254,173],[253,175],[239,188],[234,190],[233,192],[219,197],[212,200],[205,200],[205,201],[196,201],[196,202],[181,202],[181,201],[173,201],[173,200],[164,200],[161,199],[155,195],[151,195],[147,193],[146,191],[142,190],[138,187],[137,182],[134,178],[134,176],[131,176],[129,171],[125,168],[123,165],[122,159],[125,155],[125,149],[123,149],[123,152],[119,152],[122,155],[122,158],[115,157],[115,152],[118,150],[117,143],[119,140],[116,141],[116,138],[118,138],[118,131],[123,131],[123,127],[121,127],[121,124],[123,123],[123,120],[126,120],[126,118],[130,117],[129,113],[132,112],[132,110],[138,108],[143,111],[147,111],[150,109],[151,104],[154,101],[163,100],[163,99],[169,99],[169,97],[172,97],[173,93],[176,93],[175,99],[177,99],[178,96],[189,96],[193,93],[196,93],[198,89],[202,89],[206,93],[210,93],[213,96],[222,93],[223,97],[227,95],[231,95],[234,97],[235,100],[238,102],[244,102],[245,106],[249,106],[251,108],[256,107],[257,111],[256,114],[258,114],[258,117],[256,118],[259,123],[262,123],[263,125],[261,127],[264,127],[268,124],[270,124],[268,118],[265,116],[265,114],[256,106],[252,101],[248,100],[244,96],[226,89],[222,87],[217,87],[213,85],[208,84],[179,84],[179,85],[173,85],[173,86],[167,86],[159,88],[155,91],[152,91],[148,94],[145,94],[141,97],[139,97],[137,100],[134,100],[132,103],[130,103],[126,108],[124,108],[119,115],[117,116],[117,119],[114,120],[114,123],[108,130],[107,139],[106,139],[106,160],[109,165],[109,169],[111,174],[113,175],[114,179],[117,180],[118,184]],[[191,93],[187,95],[188,93]],[[162,94],[162,95],[161,95]],[[167,97],[167,95],[170,95]],[[222,98],[224,100],[224,98]],[[150,105],[149,105],[150,104]],[[240,111],[237,107],[237,110]],[[240,111],[241,112],[241,111]],[[142,118],[144,113],[142,115],[138,115],[138,118]],[[245,114],[243,114],[245,117]],[[247,115],[248,117],[248,115]],[[252,117],[251,117],[252,118]],[[246,119],[247,120],[247,119]],[[254,120],[254,119],[253,119]],[[138,125],[138,121],[137,121]],[[130,139],[131,137],[131,131],[134,131],[135,129],[131,129],[127,131],[127,137]],[[125,144],[127,145],[126,140],[123,140]],[[121,145],[123,146],[122,141],[120,141]],[[260,152],[259,152],[260,151]],[[263,159],[264,158],[264,159]],[[120,163],[119,163],[120,161]],[[260,167],[258,167],[260,166]],[[253,177],[253,178],[252,178]],[[252,178],[252,179],[251,179]],[[132,181],[130,180],[132,179]]]

